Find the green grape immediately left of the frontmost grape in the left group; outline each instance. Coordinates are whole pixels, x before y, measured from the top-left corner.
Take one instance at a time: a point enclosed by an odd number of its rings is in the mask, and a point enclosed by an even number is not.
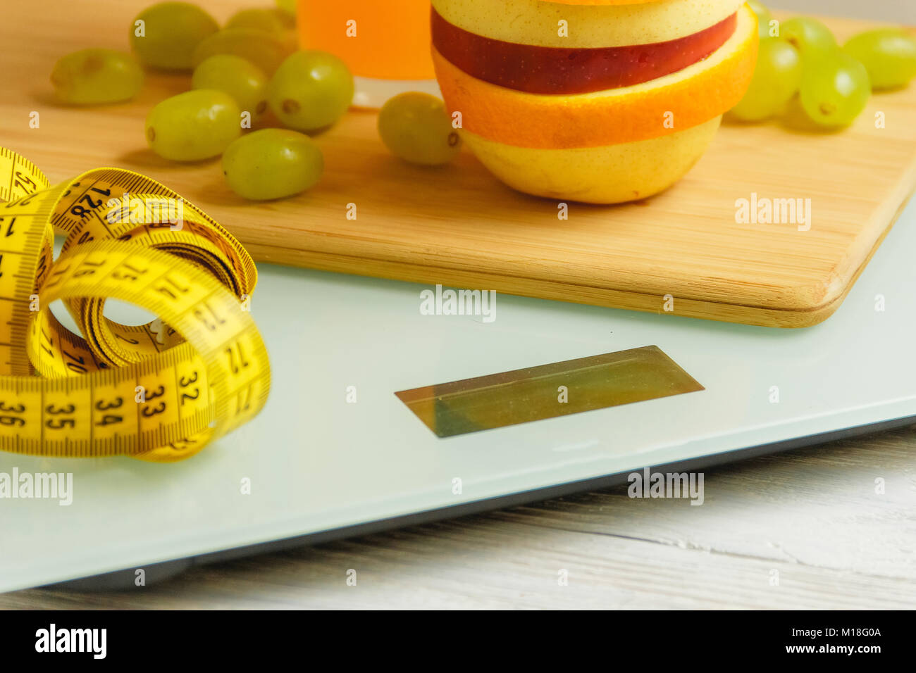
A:
[[[216,157],[242,135],[238,103],[228,93],[196,89],[159,103],[147,115],[147,142],[159,157]]]

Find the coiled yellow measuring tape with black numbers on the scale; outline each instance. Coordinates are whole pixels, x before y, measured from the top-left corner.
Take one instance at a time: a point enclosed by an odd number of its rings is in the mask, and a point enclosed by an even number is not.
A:
[[[50,187],[0,147],[0,450],[180,461],[254,418],[270,389],[256,282],[245,248],[155,180],[98,168]],[[105,299],[159,318],[118,324]]]

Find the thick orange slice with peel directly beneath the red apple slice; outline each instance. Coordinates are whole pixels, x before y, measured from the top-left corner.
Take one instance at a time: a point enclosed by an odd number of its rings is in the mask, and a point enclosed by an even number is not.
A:
[[[605,147],[668,136],[725,113],[747,91],[757,49],[757,16],[745,5],[735,34],[706,60],[603,92],[516,92],[471,77],[435,49],[432,57],[446,106],[475,135],[518,147]]]

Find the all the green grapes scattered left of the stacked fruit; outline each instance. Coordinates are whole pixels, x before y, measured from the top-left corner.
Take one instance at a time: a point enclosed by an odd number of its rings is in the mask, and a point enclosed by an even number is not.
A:
[[[245,9],[222,29],[196,5],[164,2],[136,16],[134,54],[83,49],[60,59],[51,82],[64,103],[126,101],[143,87],[141,66],[192,71],[191,91],[158,103],[147,115],[149,147],[174,161],[223,157],[229,187],[251,200],[279,199],[321,179],[324,158],[307,134],[335,124],[353,100],[344,61],[296,50],[294,3]],[[283,128],[269,125],[274,114]],[[390,101],[379,132],[398,156],[420,164],[448,161],[458,136],[442,101],[422,93]]]

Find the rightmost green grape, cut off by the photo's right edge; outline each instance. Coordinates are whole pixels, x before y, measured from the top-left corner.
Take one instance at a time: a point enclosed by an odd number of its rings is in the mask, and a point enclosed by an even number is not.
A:
[[[859,33],[843,50],[865,66],[874,89],[897,89],[916,77],[916,38],[898,28]]]

